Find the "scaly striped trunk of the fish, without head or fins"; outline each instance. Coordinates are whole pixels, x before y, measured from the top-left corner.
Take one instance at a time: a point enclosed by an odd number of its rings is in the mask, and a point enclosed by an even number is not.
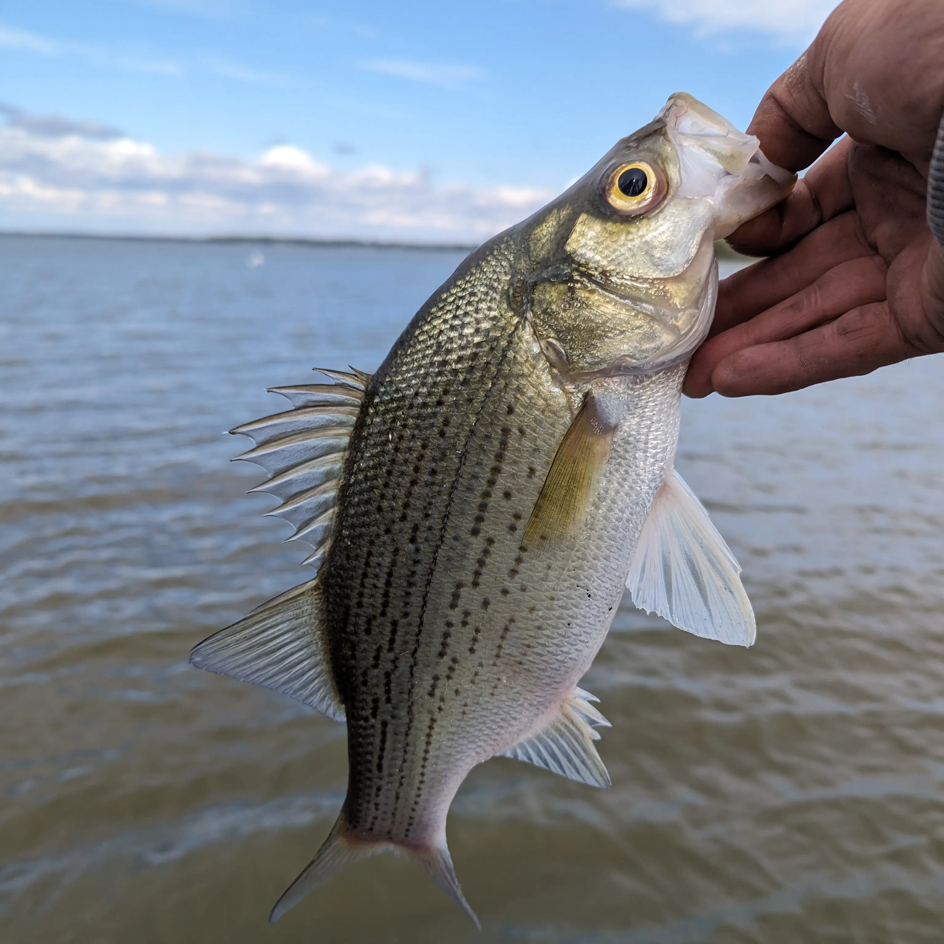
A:
[[[422,850],[475,764],[537,731],[596,655],[671,465],[683,368],[602,381],[626,411],[582,530],[522,545],[572,404],[497,251],[420,312],[371,383],[324,570],[346,708],[343,816]]]

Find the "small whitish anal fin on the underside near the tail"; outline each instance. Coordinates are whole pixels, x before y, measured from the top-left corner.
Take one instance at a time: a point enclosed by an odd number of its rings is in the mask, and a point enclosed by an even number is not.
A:
[[[593,742],[599,740],[594,728],[609,728],[610,722],[591,701],[598,699],[575,688],[550,724],[514,747],[500,751],[498,756],[527,761],[582,784],[609,786],[610,775]]]

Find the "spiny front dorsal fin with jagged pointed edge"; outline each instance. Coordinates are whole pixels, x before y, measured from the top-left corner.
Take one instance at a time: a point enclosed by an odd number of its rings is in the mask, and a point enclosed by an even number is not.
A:
[[[295,528],[290,541],[305,541],[314,548],[302,563],[316,570],[328,553],[347,444],[370,380],[362,371],[321,373],[334,382],[272,387],[292,409],[229,430],[255,444],[237,457],[269,473],[269,480],[252,491],[278,498],[281,505],[268,514]]]

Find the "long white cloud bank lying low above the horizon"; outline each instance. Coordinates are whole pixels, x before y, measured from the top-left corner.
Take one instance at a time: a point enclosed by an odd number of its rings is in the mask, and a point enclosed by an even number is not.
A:
[[[91,122],[0,108],[0,228],[478,242],[550,194],[339,171],[278,144],[256,160],[162,154]]]

